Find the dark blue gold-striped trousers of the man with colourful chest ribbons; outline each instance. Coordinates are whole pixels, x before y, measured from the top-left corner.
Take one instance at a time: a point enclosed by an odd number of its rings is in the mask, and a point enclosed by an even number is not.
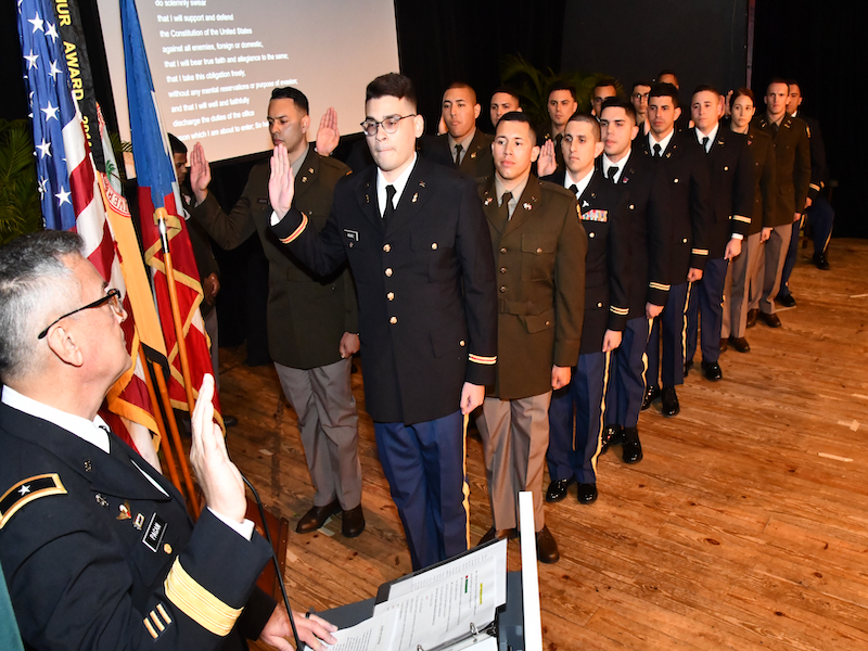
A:
[[[579,355],[569,386],[551,394],[549,405],[549,478],[597,483],[597,456],[603,426],[608,353]],[[573,422],[575,419],[575,435]]]

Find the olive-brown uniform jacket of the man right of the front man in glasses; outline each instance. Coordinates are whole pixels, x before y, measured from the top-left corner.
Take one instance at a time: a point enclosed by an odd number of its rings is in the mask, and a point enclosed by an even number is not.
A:
[[[588,241],[572,192],[531,176],[507,222],[494,177],[478,186],[495,255],[497,380],[488,395],[527,398],[551,390],[551,367],[574,367],[585,314]]]

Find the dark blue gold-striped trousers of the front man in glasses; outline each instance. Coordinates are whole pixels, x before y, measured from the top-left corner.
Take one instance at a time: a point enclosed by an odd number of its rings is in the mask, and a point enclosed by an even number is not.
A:
[[[413,425],[373,424],[413,570],[467,551],[470,545],[463,423],[461,411],[455,411]]]

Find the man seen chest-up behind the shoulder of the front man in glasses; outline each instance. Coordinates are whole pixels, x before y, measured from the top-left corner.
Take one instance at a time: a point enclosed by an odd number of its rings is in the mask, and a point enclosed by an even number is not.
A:
[[[467,84],[452,84],[443,93],[441,105],[446,133],[425,138],[422,156],[454,167],[472,179],[490,175],[492,137],[476,128],[481,113],[476,91]]]

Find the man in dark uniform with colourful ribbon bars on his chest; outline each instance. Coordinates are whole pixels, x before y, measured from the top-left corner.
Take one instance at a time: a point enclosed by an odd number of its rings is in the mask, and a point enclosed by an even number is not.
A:
[[[597,499],[597,456],[601,447],[610,355],[621,345],[629,314],[631,242],[625,202],[620,201],[615,186],[595,166],[603,152],[600,123],[590,114],[574,114],[566,123],[562,146],[566,169],[546,180],[578,197],[588,255],[578,365],[570,386],[556,391],[549,407],[546,461],[551,483],[546,501],[562,500],[570,484],[577,482],[579,503],[589,505]]]

